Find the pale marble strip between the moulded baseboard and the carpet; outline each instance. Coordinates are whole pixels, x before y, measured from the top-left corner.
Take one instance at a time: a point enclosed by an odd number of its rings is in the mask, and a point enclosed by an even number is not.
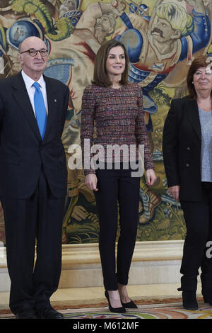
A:
[[[128,293],[134,300],[160,300],[168,298],[181,298],[181,292],[177,290],[179,283],[149,284],[128,286]],[[52,295],[52,305],[78,306],[86,304],[98,304],[107,302],[104,288],[70,288],[59,289]],[[201,296],[201,286],[197,288],[197,296]],[[8,309],[9,293],[0,293],[0,310]],[[180,301],[180,300],[179,300]]]

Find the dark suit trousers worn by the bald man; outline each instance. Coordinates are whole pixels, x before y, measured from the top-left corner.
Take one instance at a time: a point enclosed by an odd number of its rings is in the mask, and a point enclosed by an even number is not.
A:
[[[1,198],[13,313],[49,306],[61,273],[64,198],[55,198],[42,171],[33,196]],[[35,239],[37,257],[35,261]]]

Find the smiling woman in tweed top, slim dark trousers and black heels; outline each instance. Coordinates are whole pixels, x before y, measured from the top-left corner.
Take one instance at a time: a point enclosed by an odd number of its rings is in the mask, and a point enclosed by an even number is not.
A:
[[[143,119],[142,90],[129,84],[128,67],[122,43],[110,40],[103,44],[95,58],[93,83],[83,93],[81,114],[83,166],[86,185],[95,193],[105,296],[112,312],[136,307],[126,285],[139,220],[141,148],[147,184],[153,185],[156,179]]]

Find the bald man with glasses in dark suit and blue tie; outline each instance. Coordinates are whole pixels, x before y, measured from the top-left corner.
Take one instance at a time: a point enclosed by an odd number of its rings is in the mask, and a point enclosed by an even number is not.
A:
[[[42,75],[47,55],[40,38],[25,39],[18,53],[22,71],[0,80],[0,196],[10,308],[19,319],[63,317],[49,298],[57,290],[61,272],[67,189],[61,134],[69,88]]]

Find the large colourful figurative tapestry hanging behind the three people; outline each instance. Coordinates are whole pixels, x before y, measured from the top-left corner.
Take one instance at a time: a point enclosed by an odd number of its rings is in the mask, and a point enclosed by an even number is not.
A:
[[[184,239],[180,204],[167,193],[162,135],[172,98],[187,94],[192,60],[212,56],[211,0],[0,0],[0,77],[20,71],[18,45],[28,36],[45,40],[45,75],[70,89],[62,140],[68,166],[63,244],[98,242],[98,214],[83,169],[70,168],[80,145],[81,98],[93,79],[95,55],[117,39],[129,54],[129,81],[143,89],[143,108],[157,181],[141,177],[137,241]],[[117,237],[119,232],[117,234]],[[0,242],[5,243],[0,210]]]

